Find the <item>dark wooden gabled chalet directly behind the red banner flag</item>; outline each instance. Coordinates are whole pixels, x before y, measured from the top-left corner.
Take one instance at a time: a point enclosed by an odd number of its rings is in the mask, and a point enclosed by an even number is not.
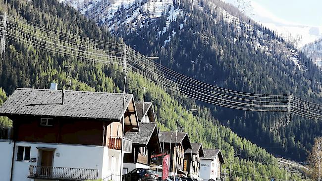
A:
[[[163,137],[164,136],[164,137]],[[176,139],[176,132],[160,131],[160,140],[164,139],[164,153],[170,154],[169,175],[177,174],[187,176],[188,172],[183,171],[184,167],[184,152],[192,148],[187,132],[178,132]]]

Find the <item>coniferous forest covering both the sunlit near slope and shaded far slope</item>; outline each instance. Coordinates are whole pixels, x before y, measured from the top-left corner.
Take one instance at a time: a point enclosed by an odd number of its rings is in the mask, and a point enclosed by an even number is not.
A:
[[[187,10],[191,6],[189,3],[181,5]],[[117,38],[109,33],[106,27],[97,26],[93,20],[88,20],[77,10],[57,0],[0,0],[0,12],[7,12],[39,27],[47,27],[48,31],[77,35],[80,40],[87,37],[120,44],[125,41],[144,55],[158,55],[162,64],[164,62],[164,65],[172,69],[224,88],[252,93],[291,93],[310,101],[319,101],[321,87],[318,82],[322,79],[321,70],[309,59],[300,54],[299,59],[308,70],[296,69],[294,64],[287,60],[286,55],[277,55],[277,59],[260,50],[254,50],[250,42],[242,39],[232,43],[231,38],[235,36],[234,27],[223,21],[221,26],[207,21],[204,19],[207,16],[204,11],[196,10],[193,18],[186,21],[187,25],[193,26],[184,26],[184,31],[178,31],[172,41],[163,48],[160,42],[164,40],[156,38],[156,34],[149,28],[153,24],[146,24],[148,27],[144,31],[123,33],[120,34],[121,38]],[[154,22],[157,28],[158,23],[164,21],[162,18],[159,20]],[[180,21],[183,20],[184,17],[178,19],[171,27],[179,28]],[[31,29],[29,26],[25,28]],[[260,26],[257,28],[265,29]],[[41,28],[37,31],[39,36],[60,38],[59,33],[49,35]],[[283,42],[282,38],[275,36],[273,32],[263,31],[270,35],[270,39]],[[202,36],[193,36],[193,32],[213,36],[207,36],[205,43]],[[136,36],[133,36],[134,34]],[[156,42],[151,43],[148,39]],[[143,44],[134,46],[138,41]],[[210,45],[214,47],[210,49]],[[287,43],[285,45],[291,47]],[[198,63],[190,61],[196,59]],[[206,64],[208,66],[205,66]],[[64,53],[48,52],[32,44],[7,39],[3,60],[0,61],[0,104],[17,87],[48,88],[51,82],[56,82],[58,88],[67,89],[69,78],[65,65],[72,66],[72,90],[121,92],[123,89],[122,66],[92,62],[86,58],[76,59]],[[273,125],[274,121],[284,119],[285,115],[235,110],[232,112],[221,107],[212,107],[191,100],[183,94],[167,92],[162,86],[138,72],[130,72],[127,92],[133,93],[137,101],[142,101],[144,87],[147,88],[145,101],[154,103],[161,130],[174,129],[176,119],[183,113],[179,123],[187,127],[191,140],[202,142],[206,148],[222,149],[226,163],[232,162],[232,169],[236,171],[253,173],[256,165],[257,175],[285,179],[287,170],[277,164],[271,153],[304,160],[306,150],[311,147],[314,137],[321,134],[320,121],[299,117],[293,117],[289,125],[278,128],[278,131],[270,131],[269,126]],[[191,108],[198,108],[198,111],[188,112]],[[233,114],[227,115],[227,112]],[[10,126],[7,118],[0,118],[0,122]],[[263,143],[261,140],[267,141]],[[234,157],[237,153],[241,156]],[[229,167],[229,164],[224,167]],[[239,177],[252,180],[247,175]],[[300,175],[292,173],[291,178],[300,180]],[[266,178],[256,178],[256,181],[262,180]]]

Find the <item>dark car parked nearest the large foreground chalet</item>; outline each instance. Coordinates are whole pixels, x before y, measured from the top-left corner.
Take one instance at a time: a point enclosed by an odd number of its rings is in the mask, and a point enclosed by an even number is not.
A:
[[[159,181],[156,171],[150,169],[134,169],[123,175],[123,181]]]

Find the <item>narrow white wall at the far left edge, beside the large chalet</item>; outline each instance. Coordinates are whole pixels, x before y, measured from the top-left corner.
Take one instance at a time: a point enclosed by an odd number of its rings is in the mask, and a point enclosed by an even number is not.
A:
[[[0,180],[10,181],[13,142],[0,140]]]

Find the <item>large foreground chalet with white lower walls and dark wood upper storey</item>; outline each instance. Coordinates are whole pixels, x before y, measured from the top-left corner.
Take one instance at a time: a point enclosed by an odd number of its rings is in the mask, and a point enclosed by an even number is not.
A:
[[[53,86],[57,87],[57,86]],[[139,131],[132,94],[18,88],[0,107],[13,120],[13,143],[1,143],[10,181],[95,180],[120,174],[124,132]],[[3,145],[6,146],[3,146]],[[123,139],[123,153],[132,142]]]

